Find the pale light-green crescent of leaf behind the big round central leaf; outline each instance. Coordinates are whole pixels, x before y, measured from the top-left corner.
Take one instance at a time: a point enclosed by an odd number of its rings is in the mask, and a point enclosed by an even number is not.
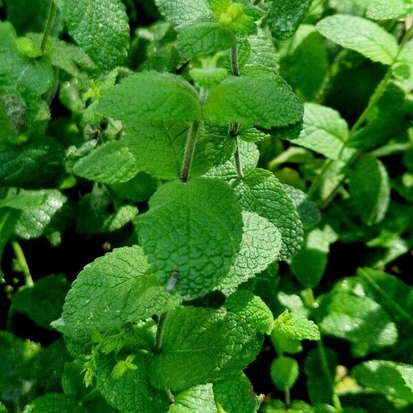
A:
[[[260,215],[242,211],[242,223],[240,252],[229,273],[217,287],[226,295],[233,293],[237,286],[261,273],[271,262],[277,260],[282,246],[281,233],[277,227]]]

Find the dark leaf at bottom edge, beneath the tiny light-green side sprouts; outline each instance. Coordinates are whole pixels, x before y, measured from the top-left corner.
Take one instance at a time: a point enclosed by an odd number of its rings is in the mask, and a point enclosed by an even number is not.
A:
[[[149,383],[149,363],[146,354],[134,354],[134,366],[126,368],[123,374],[115,374],[116,359],[113,354],[97,359],[98,389],[108,403],[121,413],[166,413],[169,404],[167,394]]]

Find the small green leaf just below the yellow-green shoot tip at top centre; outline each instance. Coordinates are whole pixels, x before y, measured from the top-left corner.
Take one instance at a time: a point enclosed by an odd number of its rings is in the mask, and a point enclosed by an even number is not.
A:
[[[184,57],[198,57],[229,50],[237,43],[235,34],[219,23],[204,22],[178,31],[178,50]]]

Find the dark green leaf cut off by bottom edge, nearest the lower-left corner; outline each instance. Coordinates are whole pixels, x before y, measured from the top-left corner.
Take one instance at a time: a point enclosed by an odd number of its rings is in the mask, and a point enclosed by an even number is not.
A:
[[[63,393],[49,393],[34,399],[25,407],[23,413],[87,413],[78,403]]]

